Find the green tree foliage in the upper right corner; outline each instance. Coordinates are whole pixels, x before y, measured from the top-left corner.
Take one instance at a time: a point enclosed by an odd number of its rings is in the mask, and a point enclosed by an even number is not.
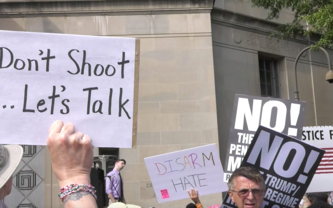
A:
[[[267,19],[279,17],[282,9],[291,9],[295,18],[292,22],[278,27],[282,38],[319,36],[311,46],[333,49],[333,0],[251,0],[257,7],[270,10]],[[277,35],[276,33],[272,34]]]

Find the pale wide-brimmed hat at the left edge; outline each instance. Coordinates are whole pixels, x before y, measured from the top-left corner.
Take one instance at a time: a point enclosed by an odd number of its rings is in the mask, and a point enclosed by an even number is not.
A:
[[[23,156],[23,148],[20,145],[0,144],[0,188],[13,176]]]

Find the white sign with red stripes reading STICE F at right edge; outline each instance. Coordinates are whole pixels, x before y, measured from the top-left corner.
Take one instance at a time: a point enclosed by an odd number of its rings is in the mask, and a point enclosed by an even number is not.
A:
[[[302,141],[325,150],[306,192],[333,191],[333,126],[303,127]]]

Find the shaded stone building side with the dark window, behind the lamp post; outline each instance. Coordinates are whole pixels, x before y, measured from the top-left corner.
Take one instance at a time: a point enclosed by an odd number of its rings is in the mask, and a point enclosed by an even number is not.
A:
[[[267,21],[268,11],[248,0],[216,0],[211,12],[212,47],[220,158],[230,128],[235,94],[294,99],[294,62],[308,46],[304,37],[269,39],[279,24],[291,22],[291,11]],[[332,51],[328,50],[330,57]],[[328,61],[321,51],[306,51],[297,63],[300,101],[306,102],[304,126],[332,125],[333,85],[325,81]],[[264,76],[263,76],[264,75]]]

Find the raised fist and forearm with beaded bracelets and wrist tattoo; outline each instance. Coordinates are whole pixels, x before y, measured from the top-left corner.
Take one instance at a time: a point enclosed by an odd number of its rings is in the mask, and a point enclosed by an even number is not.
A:
[[[94,160],[92,139],[75,131],[73,123],[56,120],[50,126],[47,146],[64,207],[97,208],[96,191],[90,184]]]

